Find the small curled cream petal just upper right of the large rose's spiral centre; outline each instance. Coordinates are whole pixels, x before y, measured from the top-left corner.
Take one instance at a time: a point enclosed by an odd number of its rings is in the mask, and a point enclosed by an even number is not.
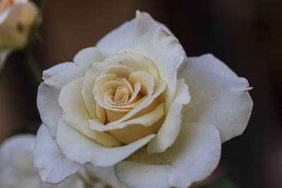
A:
[[[140,83],[142,94],[151,96],[154,92],[154,77],[149,73],[143,71],[137,71],[130,74],[128,81],[131,84]]]

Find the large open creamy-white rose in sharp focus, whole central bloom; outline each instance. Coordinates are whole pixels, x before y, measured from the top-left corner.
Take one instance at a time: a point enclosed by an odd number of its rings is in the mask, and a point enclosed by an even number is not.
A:
[[[189,187],[212,173],[221,143],[242,134],[252,111],[245,78],[211,54],[187,58],[139,11],[43,78],[37,106],[48,130],[34,160],[51,183],[88,164],[114,166],[128,187]]]

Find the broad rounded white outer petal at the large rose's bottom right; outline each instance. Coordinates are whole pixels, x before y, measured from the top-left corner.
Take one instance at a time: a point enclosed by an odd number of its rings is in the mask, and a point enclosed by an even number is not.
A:
[[[175,144],[164,153],[137,151],[116,165],[116,175],[128,187],[188,187],[203,180],[219,163],[221,142],[213,125],[183,125]]]

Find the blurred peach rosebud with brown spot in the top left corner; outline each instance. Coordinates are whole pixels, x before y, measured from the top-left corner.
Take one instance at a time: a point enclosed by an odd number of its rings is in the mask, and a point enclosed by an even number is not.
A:
[[[23,48],[36,14],[37,7],[31,1],[0,1],[0,49]]]

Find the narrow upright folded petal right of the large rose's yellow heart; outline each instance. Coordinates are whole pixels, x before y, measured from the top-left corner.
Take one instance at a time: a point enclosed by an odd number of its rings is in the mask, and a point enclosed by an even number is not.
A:
[[[190,102],[190,94],[188,92],[188,86],[184,83],[184,80],[178,80],[176,85],[176,95],[173,102],[168,109],[166,119],[157,136],[152,139],[147,147],[148,153],[161,153],[173,144],[178,137],[178,134],[182,125],[182,108],[183,105]]]

